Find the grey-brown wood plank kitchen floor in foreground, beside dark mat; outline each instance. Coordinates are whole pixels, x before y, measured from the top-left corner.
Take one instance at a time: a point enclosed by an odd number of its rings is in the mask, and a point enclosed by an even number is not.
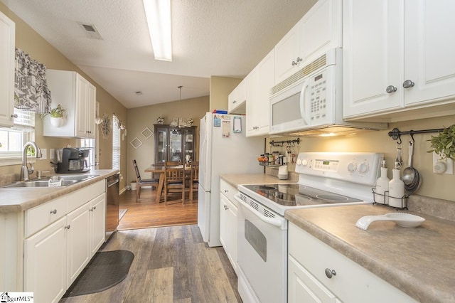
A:
[[[223,248],[208,248],[197,225],[120,230],[100,250],[134,253],[127,278],[61,303],[242,302]]]

